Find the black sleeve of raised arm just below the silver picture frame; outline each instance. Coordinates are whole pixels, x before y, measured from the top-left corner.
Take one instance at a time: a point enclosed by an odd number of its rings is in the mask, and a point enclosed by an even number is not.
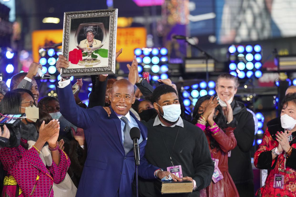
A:
[[[100,82],[96,76],[92,75],[91,78],[93,87],[91,89],[91,94],[89,95],[89,108],[93,108],[95,106],[104,107],[108,77],[103,82]]]

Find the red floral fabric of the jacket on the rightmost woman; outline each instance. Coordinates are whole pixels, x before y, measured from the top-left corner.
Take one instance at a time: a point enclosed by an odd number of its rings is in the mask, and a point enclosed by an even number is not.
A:
[[[258,157],[261,153],[266,151],[271,151],[275,147],[279,145],[278,141],[272,139],[271,134],[266,129],[261,144],[259,145],[258,150],[255,152],[254,155],[254,165],[257,167],[258,164]],[[296,148],[296,144],[292,144],[292,148]],[[276,160],[276,165],[274,169],[268,170],[268,175],[265,181],[265,186],[261,189],[262,197],[269,197],[269,196],[296,196],[296,170],[286,166],[286,171],[291,172],[291,174],[287,174],[285,172],[279,172],[279,165],[281,165],[281,169],[283,169],[284,164],[284,152],[278,156]],[[272,165],[274,165],[275,159],[272,161]],[[284,175],[284,189],[275,189],[274,185],[274,175],[275,174]]]

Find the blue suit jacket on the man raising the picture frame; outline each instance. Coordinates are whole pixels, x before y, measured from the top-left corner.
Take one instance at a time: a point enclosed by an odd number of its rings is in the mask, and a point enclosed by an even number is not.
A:
[[[57,85],[57,84],[56,84]],[[76,105],[71,85],[57,87],[60,112],[72,124],[84,129],[87,143],[87,158],[76,196],[113,197],[119,189],[119,196],[132,196],[131,185],[135,173],[133,150],[124,153],[121,121],[111,109],[108,117],[104,108],[97,106],[84,109]],[[144,158],[147,143],[147,128],[137,120],[143,141],[140,146],[139,176],[154,179],[159,169]],[[71,159],[71,158],[70,158]]]

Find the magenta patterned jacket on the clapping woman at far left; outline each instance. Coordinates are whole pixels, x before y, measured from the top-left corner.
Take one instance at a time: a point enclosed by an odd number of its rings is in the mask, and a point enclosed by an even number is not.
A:
[[[27,143],[24,139],[22,141]],[[52,166],[45,166],[35,148],[27,150],[18,146],[16,148],[1,148],[0,160],[4,170],[7,171],[7,176],[15,178],[22,190],[22,195],[53,197],[53,183],[61,183],[70,166],[70,159],[67,154],[60,149],[59,154],[60,163],[58,166],[54,161],[52,161]],[[33,189],[35,185],[36,187]],[[13,191],[10,191],[10,188],[9,185],[5,185],[2,195],[12,194]]]

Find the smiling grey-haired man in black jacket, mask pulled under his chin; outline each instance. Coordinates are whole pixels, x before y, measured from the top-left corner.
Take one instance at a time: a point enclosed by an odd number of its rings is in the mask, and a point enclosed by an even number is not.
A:
[[[229,73],[221,74],[216,81],[219,106],[223,110],[226,122],[236,128],[233,133],[237,147],[231,150],[228,158],[228,170],[237,187],[240,197],[254,196],[253,170],[250,149],[253,146],[255,123],[253,115],[242,102],[235,101],[239,82]]]

